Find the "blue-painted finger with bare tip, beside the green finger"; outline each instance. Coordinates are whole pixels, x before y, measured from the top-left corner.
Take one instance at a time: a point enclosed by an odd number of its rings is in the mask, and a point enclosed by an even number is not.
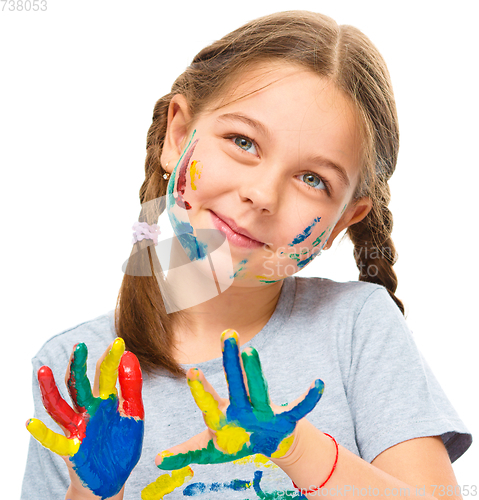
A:
[[[243,379],[238,341],[238,334],[234,330],[225,330],[221,334],[223,367],[228,382],[230,405],[242,411],[251,412],[251,403]]]

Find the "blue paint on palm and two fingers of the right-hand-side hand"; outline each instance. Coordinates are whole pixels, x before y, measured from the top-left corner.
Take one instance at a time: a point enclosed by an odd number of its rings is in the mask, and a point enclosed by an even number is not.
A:
[[[238,344],[232,337],[224,342],[223,362],[230,394],[226,419],[251,433],[248,447],[250,454],[261,453],[270,457],[281,441],[293,433],[296,422],[314,409],[321,398],[324,384],[316,380],[302,402],[292,410],[275,415],[271,409],[257,410],[251,404],[242,375]]]

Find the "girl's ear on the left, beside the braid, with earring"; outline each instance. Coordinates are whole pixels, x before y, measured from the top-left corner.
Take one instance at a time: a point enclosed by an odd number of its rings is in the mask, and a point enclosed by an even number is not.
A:
[[[161,152],[161,165],[171,173],[181,157],[183,147],[188,137],[188,126],[191,123],[191,113],[186,97],[175,94],[168,108],[165,142]],[[166,165],[168,163],[168,166]]]

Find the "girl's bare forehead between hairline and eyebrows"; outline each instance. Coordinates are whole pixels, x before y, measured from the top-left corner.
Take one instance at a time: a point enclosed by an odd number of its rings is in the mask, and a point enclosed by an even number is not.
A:
[[[258,64],[241,73],[206,115],[216,122],[234,115],[253,118],[274,139],[300,147],[305,155],[334,157],[351,169],[360,163],[355,105],[332,80],[298,65]]]

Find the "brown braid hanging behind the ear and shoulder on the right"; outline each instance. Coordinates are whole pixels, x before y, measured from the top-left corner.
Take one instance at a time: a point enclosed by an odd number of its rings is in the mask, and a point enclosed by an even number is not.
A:
[[[398,279],[393,265],[397,252],[391,238],[393,216],[388,208],[390,192],[387,182],[381,186],[376,207],[360,222],[348,227],[347,234],[354,245],[354,259],[359,280],[382,285],[404,314],[404,305],[396,297]]]

